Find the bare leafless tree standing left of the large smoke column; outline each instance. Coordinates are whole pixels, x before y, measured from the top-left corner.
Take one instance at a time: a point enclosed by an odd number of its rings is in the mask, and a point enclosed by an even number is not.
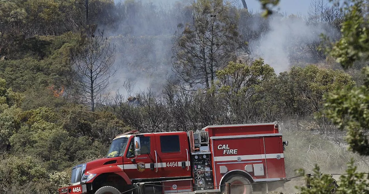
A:
[[[78,99],[92,111],[98,103],[104,102],[103,92],[117,71],[114,61],[115,45],[110,44],[104,32],[99,30],[97,35],[86,37],[86,48],[73,62],[76,74],[73,89]]]

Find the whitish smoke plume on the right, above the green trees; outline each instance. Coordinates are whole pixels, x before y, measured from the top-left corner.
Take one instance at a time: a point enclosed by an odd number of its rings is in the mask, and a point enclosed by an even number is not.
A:
[[[258,40],[251,41],[250,46],[254,51],[252,57],[262,57],[277,74],[288,71],[292,65],[317,62],[313,55],[317,51],[311,48],[317,48],[320,35],[335,37],[338,34],[330,25],[309,24],[297,16],[275,15],[268,20],[269,30]]]

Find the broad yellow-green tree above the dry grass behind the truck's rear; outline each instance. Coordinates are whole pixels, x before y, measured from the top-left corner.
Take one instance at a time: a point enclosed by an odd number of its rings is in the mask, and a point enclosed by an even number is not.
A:
[[[291,113],[289,116],[303,117],[323,107],[323,94],[333,92],[338,87],[353,88],[354,84],[352,77],[342,70],[308,65],[304,68],[292,67],[290,71],[282,72],[274,85],[274,91],[280,97],[280,107]]]

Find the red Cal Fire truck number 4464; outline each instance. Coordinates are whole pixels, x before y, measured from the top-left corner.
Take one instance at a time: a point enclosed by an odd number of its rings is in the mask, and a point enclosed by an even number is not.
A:
[[[277,122],[212,125],[196,132],[116,136],[103,159],[72,169],[59,193],[251,194],[283,186],[284,146]]]

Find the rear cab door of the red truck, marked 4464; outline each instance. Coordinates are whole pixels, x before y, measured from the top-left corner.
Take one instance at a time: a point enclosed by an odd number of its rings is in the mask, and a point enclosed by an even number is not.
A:
[[[190,177],[190,151],[185,132],[155,137],[159,177]]]

